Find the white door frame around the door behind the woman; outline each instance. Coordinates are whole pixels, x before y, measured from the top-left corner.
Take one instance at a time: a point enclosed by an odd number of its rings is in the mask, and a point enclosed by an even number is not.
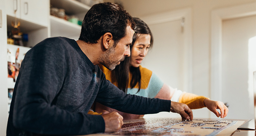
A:
[[[141,19],[147,25],[155,25],[160,23],[172,22],[184,19],[183,34],[183,90],[192,93],[192,17],[191,8],[172,10],[163,13],[151,14],[143,16]]]

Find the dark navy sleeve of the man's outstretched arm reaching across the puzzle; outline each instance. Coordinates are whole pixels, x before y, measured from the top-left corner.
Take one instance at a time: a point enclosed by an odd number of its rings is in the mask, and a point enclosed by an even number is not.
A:
[[[113,109],[131,114],[153,114],[160,111],[170,112],[171,101],[158,98],[126,94],[119,90],[102,74],[101,86],[96,101]]]

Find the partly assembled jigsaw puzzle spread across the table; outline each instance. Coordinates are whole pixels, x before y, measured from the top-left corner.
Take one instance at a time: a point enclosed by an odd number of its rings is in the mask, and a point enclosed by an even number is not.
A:
[[[225,129],[235,124],[239,127],[242,123],[243,121],[234,120],[182,121],[181,119],[171,118],[143,118],[126,120],[119,131],[104,134],[122,136],[216,136]],[[227,133],[231,135],[237,127],[227,130],[224,135]]]

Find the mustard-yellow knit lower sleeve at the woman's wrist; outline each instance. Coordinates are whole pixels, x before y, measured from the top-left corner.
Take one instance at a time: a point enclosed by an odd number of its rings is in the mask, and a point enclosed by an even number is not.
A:
[[[200,109],[205,107],[203,104],[204,99],[209,99],[204,96],[199,96],[193,93],[183,92],[180,96],[179,102],[188,105],[190,109]]]

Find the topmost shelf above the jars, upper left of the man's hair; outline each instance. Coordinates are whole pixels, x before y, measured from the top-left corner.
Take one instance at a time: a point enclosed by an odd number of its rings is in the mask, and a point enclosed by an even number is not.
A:
[[[51,0],[51,5],[54,8],[65,9],[66,14],[81,14],[85,13],[91,8],[81,2],[75,0]]]

